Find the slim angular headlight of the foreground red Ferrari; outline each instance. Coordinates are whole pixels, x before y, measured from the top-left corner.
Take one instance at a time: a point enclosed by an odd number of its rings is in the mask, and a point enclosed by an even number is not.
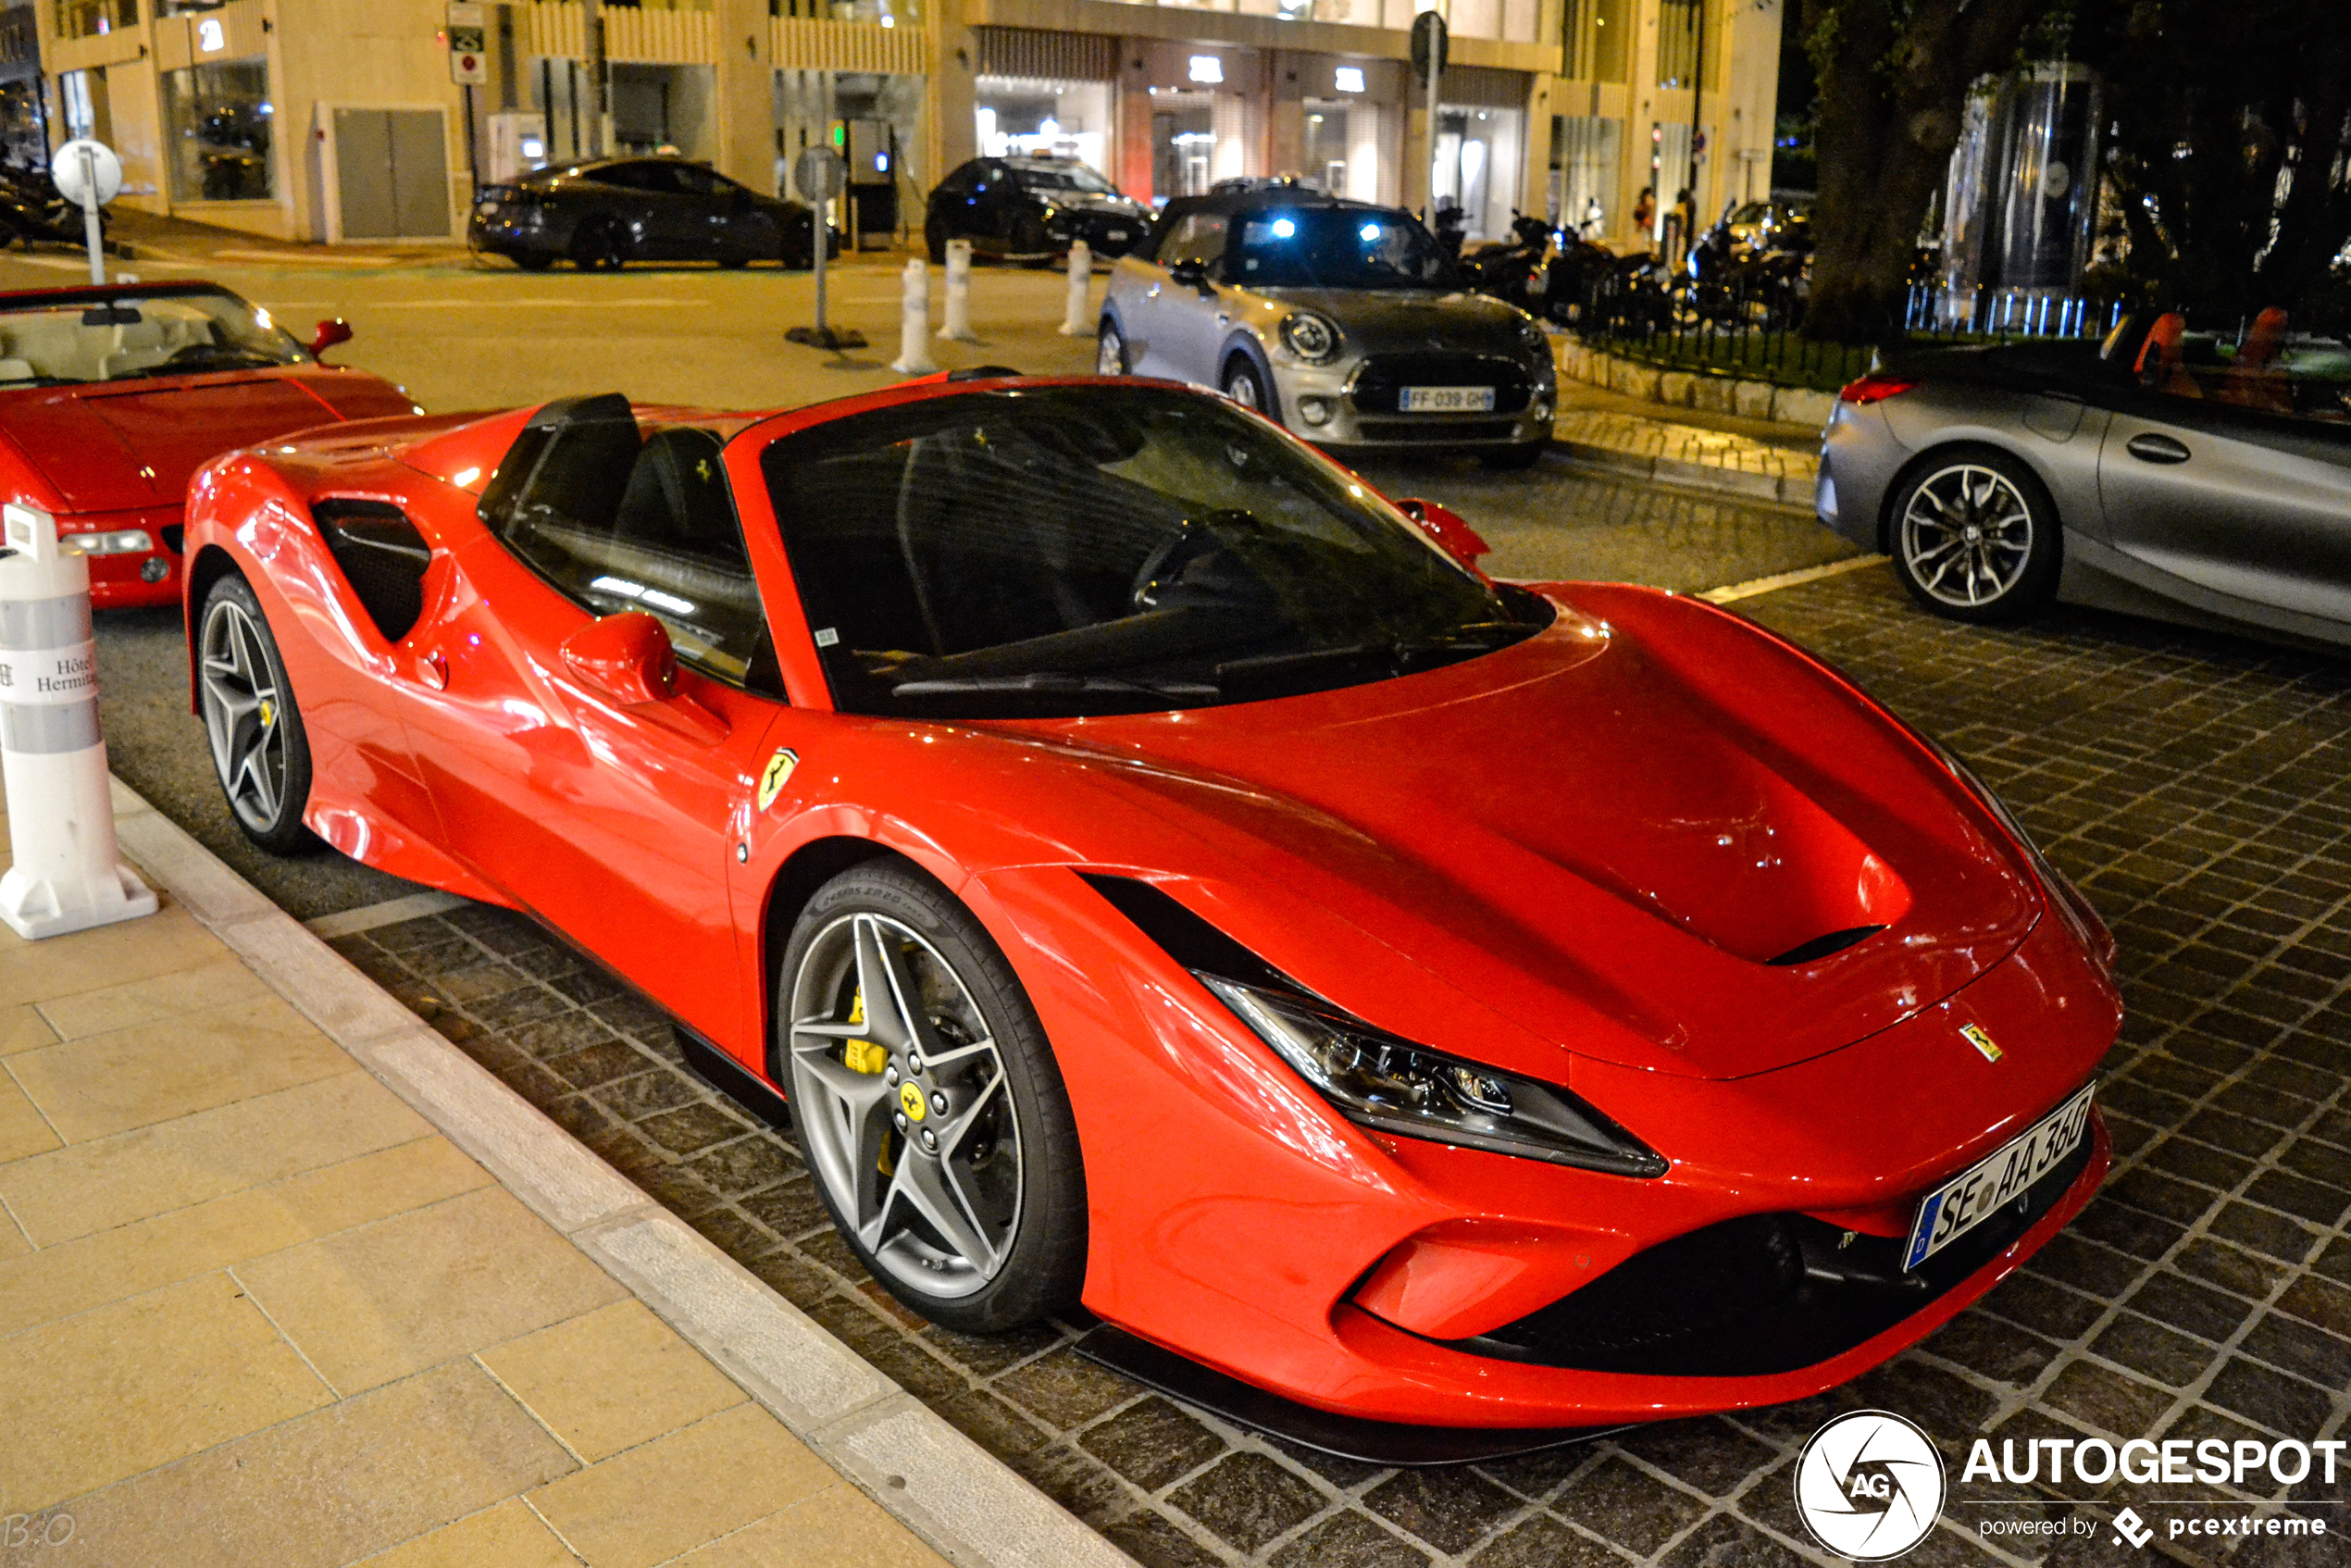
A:
[[[1357,1126],[1615,1175],[1667,1171],[1566,1088],[1401,1041],[1307,997],[1192,973]]]

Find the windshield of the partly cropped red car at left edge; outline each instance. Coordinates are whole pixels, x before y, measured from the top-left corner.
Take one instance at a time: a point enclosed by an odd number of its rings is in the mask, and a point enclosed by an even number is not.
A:
[[[303,364],[310,355],[235,294],[115,294],[0,308],[0,388]]]

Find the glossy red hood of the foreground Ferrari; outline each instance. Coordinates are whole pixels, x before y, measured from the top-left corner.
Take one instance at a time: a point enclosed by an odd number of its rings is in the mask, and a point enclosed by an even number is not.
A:
[[[1719,611],[1634,614],[1672,635],[1568,611],[1444,670],[1058,731],[1201,842],[1164,867],[1197,912],[1349,1011],[1498,1065],[1493,1037],[1531,1034],[1625,1067],[1768,1072],[2024,940],[2027,863],[1897,724]],[[1883,931],[1773,961],[1855,926]],[[1429,978],[1455,1001],[1427,1001]]]

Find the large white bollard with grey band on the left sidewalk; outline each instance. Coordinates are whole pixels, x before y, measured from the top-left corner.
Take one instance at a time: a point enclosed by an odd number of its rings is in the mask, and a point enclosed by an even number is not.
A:
[[[99,736],[89,557],[56,548],[56,520],[0,508],[0,771],[14,865],[0,919],[16,936],[63,936],[155,912],[115,851],[115,797]]]

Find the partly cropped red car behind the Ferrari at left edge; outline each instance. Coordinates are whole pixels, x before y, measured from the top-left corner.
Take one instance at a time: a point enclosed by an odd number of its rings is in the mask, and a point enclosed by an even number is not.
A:
[[[0,294],[0,496],[56,515],[99,609],[176,604],[181,501],[205,458],[343,418],[421,414],[320,364],[268,310],[209,282]]]

